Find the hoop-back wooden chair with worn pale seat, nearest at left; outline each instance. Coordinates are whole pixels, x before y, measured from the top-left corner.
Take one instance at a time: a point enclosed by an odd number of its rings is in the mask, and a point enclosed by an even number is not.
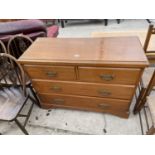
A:
[[[28,100],[32,101],[29,111],[26,115],[21,114]],[[13,56],[0,53],[0,120],[14,121],[28,135],[25,126],[35,102],[25,89],[25,75],[20,64]],[[25,118],[24,125],[19,122],[19,117]]]

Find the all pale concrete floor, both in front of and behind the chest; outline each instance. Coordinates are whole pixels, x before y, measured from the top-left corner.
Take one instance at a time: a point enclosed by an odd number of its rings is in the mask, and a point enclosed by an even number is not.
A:
[[[148,23],[146,20],[121,20],[120,24],[117,24],[116,20],[109,20],[108,26],[104,26],[103,22],[89,23],[85,20],[85,22],[80,23],[79,21],[73,21],[69,22],[65,28],[60,28],[59,37],[91,37],[92,32],[146,30],[147,27]],[[147,72],[147,75],[150,72]],[[132,102],[129,119],[122,119],[103,113],[77,110],[52,109],[48,111],[34,106],[26,128],[29,134],[33,135],[140,135],[142,132],[139,115],[132,114],[134,104],[135,99]],[[27,107],[25,110],[27,110]],[[142,120],[144,130],[146,131],[143,112]],[[106,132],[104,129],[106,129]],[[0,133],[6,135],[23,134],[13,122],[0,122]]]

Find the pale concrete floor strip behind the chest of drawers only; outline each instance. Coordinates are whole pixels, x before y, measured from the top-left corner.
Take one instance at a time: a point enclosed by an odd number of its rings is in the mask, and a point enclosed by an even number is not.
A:
[[[117,24],[116,20],[109,20],[108,26],[104,26],[104,21],[101,20],[95,24],[89,20],[84,20],[82,23],[78,20],[69,21],[65,28],[60,29],[59,37],[91,37],[92,32],[105,31],[129,31],[129,30],[146,30],[148,22],[146,20],[121,20]]]

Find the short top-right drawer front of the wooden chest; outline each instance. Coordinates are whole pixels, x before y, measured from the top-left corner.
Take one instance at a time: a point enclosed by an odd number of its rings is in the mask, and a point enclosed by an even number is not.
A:
[[[79,67],[79,80],[110,84],[135,85],[141,70],[129,68]]]

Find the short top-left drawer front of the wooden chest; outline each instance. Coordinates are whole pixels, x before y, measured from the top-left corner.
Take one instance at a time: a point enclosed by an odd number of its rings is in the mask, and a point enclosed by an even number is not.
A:
[[[74,67],[24,65],[31,79],[75,80]]]

